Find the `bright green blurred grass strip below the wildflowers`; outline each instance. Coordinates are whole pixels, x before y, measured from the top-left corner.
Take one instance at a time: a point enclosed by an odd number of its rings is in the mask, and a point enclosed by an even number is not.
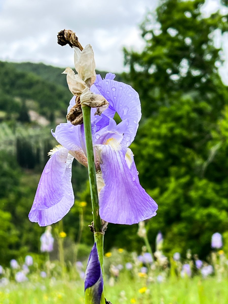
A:
[[[147,290],[142,279],[131,280],[124,273],[113,287],[105,285],[105,296],[115,303],[147,304],[227,304],[228,281],[218,282],[215,277],[201,280],[169,280],[151,282]],[[10,283],[0,288],[0,304],[81,304],[84,303],[83,282],[38,279],[37,282]]]

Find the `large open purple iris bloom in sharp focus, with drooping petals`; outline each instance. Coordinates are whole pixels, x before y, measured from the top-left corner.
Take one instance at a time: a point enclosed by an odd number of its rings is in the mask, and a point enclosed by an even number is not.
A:
[[[141,187],[133,153],[128,148],[141,118],[139,95],[130,85],[114,81],[114,78],[111,73],[105,79],[97,75],[90,88],[109,102],[109,107],[100,116],[94,115],[95,108],[91,109],[95,164],[102,174],[99,213],[106,222],[131,225],[155,216],[157,204]],[[74,105],[75,96],[67,112]],[[118,125],[113,119],[116,112],[122,119]],[[29,212],[29,219],[40,226],[56,223],[74,204],[73,159],[87,166],[83,124],[60,123],[53,136],[61,146],[50,153]]]

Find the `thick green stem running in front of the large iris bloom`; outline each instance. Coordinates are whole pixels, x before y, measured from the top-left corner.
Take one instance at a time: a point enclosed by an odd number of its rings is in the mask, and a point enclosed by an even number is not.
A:
[[[97,251],[103,272],[103,242],[104,235],[101,232],[102,223],[99,215],[99,201],[97,191],[97,180],[96,180],[96,169],[94,162],[93,143],[92,143],[92,132],[91,132],[91,120],[90,112],[91,108],[88,105],[82,105],[82,115],[85,131],[85,143],[86,143],[86,154],[88,160],[88,173],[89,173],[89,186],[91,193],[91,202],[93,210],[93,228],[94,228],[94,240],[97,243]],[[103,272],[104,273],[104,272]]]

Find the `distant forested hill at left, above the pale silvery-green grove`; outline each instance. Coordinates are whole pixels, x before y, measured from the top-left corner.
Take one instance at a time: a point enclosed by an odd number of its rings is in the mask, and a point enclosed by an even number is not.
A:
[[[29,121],[29,110],[50,122],[64,117],[72,94],[63,70],[43,63],[0,61],[0,120]],[[97,74],[105,77],[106,72]],[[121,76],[116,79],[121,81]]]

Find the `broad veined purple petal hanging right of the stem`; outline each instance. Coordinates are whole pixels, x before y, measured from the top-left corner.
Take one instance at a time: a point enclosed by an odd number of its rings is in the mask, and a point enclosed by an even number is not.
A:
[[[139,183],[134,162],[125,160],[126,149],[97,145],[105,186],[99,194],[99,213],[115,224],[135,224],[156,215],[157,204]]]

